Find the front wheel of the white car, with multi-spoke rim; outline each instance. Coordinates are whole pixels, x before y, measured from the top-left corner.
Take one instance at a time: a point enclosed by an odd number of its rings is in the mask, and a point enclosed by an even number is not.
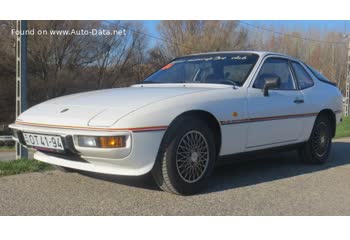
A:
[[[216,155],[214,135],[207,124],[194,117],[180,117],[165,133],[153,178],[164,191],[197,193],[206,186]]]

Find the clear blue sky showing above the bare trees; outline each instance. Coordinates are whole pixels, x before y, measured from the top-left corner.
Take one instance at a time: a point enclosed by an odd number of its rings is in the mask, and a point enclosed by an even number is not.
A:
[[[152,36],[159,37],[157,25],[160,20],[143,21],[148,33]],[[350,34],[350,21],[330,21],[330,20],[245,20],[244,22],[264,28],[274,27],[276,30],[285,29],[286,31],[305,30],[309,28],[318,28],[324,31],[337,31],[339,33]],[[249,27],[248,27],[249,28]]]

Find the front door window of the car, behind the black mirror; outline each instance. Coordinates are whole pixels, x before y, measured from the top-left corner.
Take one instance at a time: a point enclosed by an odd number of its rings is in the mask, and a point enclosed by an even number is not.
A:
[[[292,74],[289,69],[288,60],[282,58],[268,58],[261,67],[253,87],[263,88],[265,85],[265,79],[272,76],[277,76],[280,78],[281,85],[278,88],[279,90],[296,89]]]

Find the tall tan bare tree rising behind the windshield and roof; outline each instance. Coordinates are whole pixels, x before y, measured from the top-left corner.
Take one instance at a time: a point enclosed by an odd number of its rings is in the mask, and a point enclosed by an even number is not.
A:
[[[166,40],[162,51],[172,58],[247,47],[247,32],[238,21],[161,21],[158,30]]]

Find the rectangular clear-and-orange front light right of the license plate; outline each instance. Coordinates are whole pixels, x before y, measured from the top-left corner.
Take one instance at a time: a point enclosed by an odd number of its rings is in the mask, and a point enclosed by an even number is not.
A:
[[[126,136],[78,136],[80,147],[123,148],[126,146]]]

